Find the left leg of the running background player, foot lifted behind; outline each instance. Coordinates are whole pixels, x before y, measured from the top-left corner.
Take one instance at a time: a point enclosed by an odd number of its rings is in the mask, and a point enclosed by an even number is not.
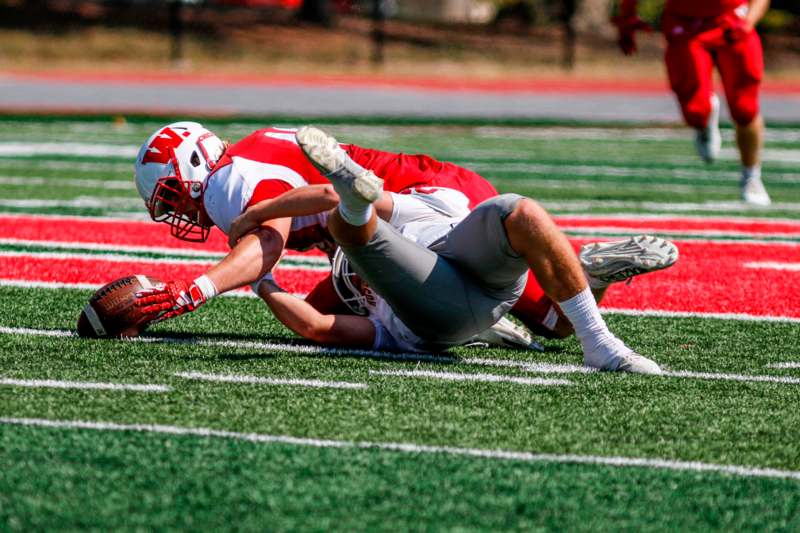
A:
[[[669,32],[670,27],[665,27]],[[671,37],[667,33],[665,62],[670,87],[686,123],[695,129],[695,147],[706,162],[719,155],[719,99],[714,94],[714,61],[701,36]]]

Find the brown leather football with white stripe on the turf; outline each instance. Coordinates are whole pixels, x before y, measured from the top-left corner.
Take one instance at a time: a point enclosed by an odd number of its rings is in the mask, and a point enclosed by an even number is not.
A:
[[[143,314],[135,305],[136,293],[161,280],[141,274],[112,281],[100,287],[78,317],[80,337],[136,337],[155,315]]]

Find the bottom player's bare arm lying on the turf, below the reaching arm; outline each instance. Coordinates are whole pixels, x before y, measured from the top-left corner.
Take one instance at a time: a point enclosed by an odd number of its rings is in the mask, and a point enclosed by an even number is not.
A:
[[[324,315],[266,280],[258,285],[258,295],[283,325],[305,339],[359,348],[372,348],[375,342],[375,326],[368,318]]]

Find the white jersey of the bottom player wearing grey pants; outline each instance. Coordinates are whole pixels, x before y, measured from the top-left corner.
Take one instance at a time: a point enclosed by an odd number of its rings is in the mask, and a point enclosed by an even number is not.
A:
[[[428,247],[469,214],[469,199],[454,189],[425,189],[394,194],[390,223],[405,238]],[[375,325],[373,348],[424,351],[424,341],[398,318],[386,300],[367,295],[369,319]]]

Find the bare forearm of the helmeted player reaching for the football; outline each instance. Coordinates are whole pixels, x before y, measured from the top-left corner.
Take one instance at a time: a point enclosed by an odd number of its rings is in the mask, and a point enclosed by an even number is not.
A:
[[[248,285],[271,271],[281,257],[290,226],[290,218],[279,218],[245,235],[222,261],[206,272],[217,292]]]

